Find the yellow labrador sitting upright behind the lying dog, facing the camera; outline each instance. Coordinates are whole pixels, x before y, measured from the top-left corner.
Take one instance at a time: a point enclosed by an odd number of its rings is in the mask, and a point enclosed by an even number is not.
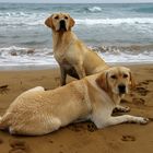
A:
[[[54,56],[60,66],[61,85],[66,84],[67,74],[82,79],[108,68],[106,62],[71,31],[74,23],[68,13],[55,13],[45,21],[52,30]]]

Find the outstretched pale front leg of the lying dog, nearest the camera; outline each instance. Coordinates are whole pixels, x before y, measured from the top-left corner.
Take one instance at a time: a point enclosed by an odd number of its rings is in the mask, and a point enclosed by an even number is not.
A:
[[[149,122],[148,118],[143,118],[143,117],[136,117],[136,116],[130,116],[130,115],[122,115],[122,116],[117,116],[117,117],[109,117],[109,118],[105,118],[104,120],[102,119],[98,122],[95,122],[95,125],[97,126],[97,128],[104,128],[104,127],[108,127],[108,126],[114,126],[114,125],[119,125],[119,123],[123,123],[123,122],[134,122],[134,123],[142,123],[145,125]]]

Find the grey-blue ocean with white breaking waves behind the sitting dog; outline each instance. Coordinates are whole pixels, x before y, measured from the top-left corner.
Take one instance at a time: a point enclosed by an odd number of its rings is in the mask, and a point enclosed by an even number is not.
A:
[[[0,3],[0,69],[58,66],[44,24],[54,12],[70,13],[72,31],[106,62],[153,62],[153,3]]]

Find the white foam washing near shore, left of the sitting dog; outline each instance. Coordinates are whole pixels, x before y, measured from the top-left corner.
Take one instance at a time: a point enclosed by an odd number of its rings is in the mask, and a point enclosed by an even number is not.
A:
[[[11,46],[0,48],[0,66],[47,66],[57,64],[52,49],[33,49]]]

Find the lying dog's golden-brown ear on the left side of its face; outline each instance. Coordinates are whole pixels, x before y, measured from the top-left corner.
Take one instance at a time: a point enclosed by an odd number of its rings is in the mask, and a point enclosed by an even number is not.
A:
[[[103,89],[105,92],[108,92],[108,72],[102,73],[97,79],[96,79],[96,84]]]

